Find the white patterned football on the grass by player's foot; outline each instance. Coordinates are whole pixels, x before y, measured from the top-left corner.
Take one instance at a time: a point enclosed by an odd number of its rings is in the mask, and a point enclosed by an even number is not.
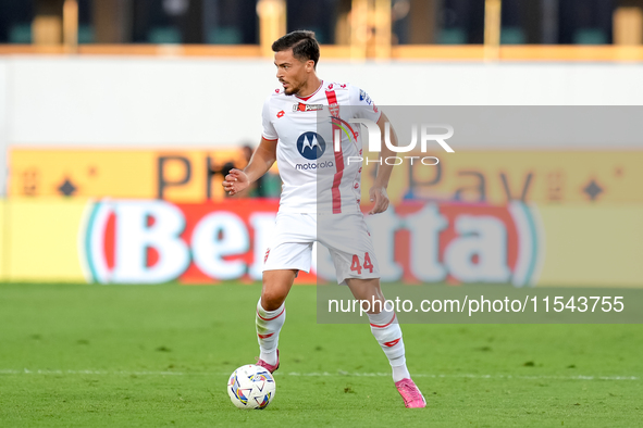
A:
[[[240,366],[227,380],[227,394],[239,408],[263,410],[274,399],[274,377],[265,368],[247,364]]]

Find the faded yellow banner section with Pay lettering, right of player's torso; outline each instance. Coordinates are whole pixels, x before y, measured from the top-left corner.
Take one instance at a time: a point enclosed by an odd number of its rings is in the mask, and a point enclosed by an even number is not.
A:
[[[491,204],[643,202],[643,151],[442,152],[432,154],[440,160],[434,166],[422,165],[422,156],[411,166],[404,155],[419,154],[398,153],[403,162],[395,166],[388,187],[394,203],[404,198]],[[376,155],[364,155],[362,199],[378,166],[372,161],[366,165],[366,158]]]

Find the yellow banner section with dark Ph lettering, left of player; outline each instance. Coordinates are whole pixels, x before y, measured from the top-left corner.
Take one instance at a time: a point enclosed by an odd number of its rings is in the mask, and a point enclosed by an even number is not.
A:
[[[10,197],[156,199],[224,198],[222,171],[244,167],[242,149],[13,149]]]

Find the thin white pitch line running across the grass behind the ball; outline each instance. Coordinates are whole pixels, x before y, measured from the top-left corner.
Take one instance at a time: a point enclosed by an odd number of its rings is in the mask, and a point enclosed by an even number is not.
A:
[[[101,376],[227,376],[226,373],[183,373],[183,372],[126,372],[126,370],[51,370],[51,369],[0,369],[0,375],[101,375]],[[359,373],[359,372],[344,372],[337,373],[329,372],[313,372],[313,373],[275,373],[275,376],[301,376],[301,377],[389,377],[389,373]],[[468,379],[528,379],[528,380],[640,380],[636,376],[547,376],[547,375],[433,375],[416,373],[413,377],[424,378],[468,378]]]

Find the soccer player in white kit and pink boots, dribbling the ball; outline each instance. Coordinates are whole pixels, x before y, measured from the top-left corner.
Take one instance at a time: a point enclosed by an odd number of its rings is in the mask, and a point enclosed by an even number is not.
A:
[[[359,127],[348,119],[370,119],[384,136],[387,118],[363,90],[317,76],[320,51],[312,32],[289,33],[276,40],[272,50],[282,88],[263,104],[261,142],[249,164],[244,171],[231,171],[223,182],[227,193],[238,193],[275,161],[283,181],[257,304],[257,364],[270,372],[279,368],[277,341],[286,318],[285,300],[298,272],[310,269],[312,244],[318,241],[330,250],[337,281],[347,285],[356,299],[379,302],[368,316],[371,331],[391,363],[395,387],[407,407],[424,407],[426,402],[406,366],[397,317],[383,305],[378,261],[359,207],[361,162],[355,160],[362,154],[361,142]],[[335,144],[339,136],[341,144]],[[393,130],[391,139],[397,143]],[[381,158],[394,155],[382,146]],[[386,187],[392,168],[385,163],[379,167],[369,190],[374,203],[370,215],[388,207]]]

